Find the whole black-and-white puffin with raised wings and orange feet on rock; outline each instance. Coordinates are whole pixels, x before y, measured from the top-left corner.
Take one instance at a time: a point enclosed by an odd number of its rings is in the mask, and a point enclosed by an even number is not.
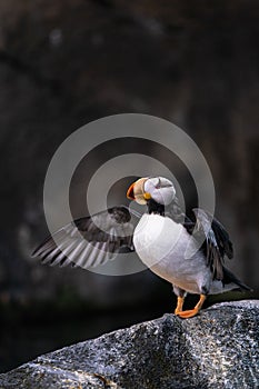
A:
[[[127,198],[146,206],[147,212],[119,206],[73,220],[49,236],[32,257],[50,266],[89,269],[118,252],[136,251],[152,272],[172,285],[175,313],[182,319],[195,317],[208,295],[251,290],[225,266],[226,257],[233,258],[225,227],[199,208],[188,218],[169,179],[140,178],[129,187]],[[185,310],[188,293],[199,295],[199,301]]]

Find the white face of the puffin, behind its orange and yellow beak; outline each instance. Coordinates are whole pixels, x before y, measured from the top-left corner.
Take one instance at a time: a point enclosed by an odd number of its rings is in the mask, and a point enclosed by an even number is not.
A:
[[[163,177],[148,178],[143,183],[143,189],[162,206],[168,206],[176,197],[173,183]]]

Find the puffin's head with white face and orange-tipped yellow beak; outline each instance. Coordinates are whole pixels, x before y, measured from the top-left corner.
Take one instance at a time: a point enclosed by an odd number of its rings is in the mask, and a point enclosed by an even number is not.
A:
[[[173,183],[163,177],[140,178],[129,187],[127,197],[140,205],[146,205],[152,199],[159,205],[168,206],[176,197],[176,189]]]

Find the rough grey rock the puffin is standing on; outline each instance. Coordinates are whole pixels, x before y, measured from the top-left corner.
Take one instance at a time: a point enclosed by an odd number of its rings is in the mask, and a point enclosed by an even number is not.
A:
[[[223,302],[66,347],[0,376],[0,388],[258,388],[259,301]]]

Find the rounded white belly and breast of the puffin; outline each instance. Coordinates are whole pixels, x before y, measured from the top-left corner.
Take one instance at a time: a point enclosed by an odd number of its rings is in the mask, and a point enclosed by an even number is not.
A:
[[[185,227],[169,218],[145,215],[136,228],[133,245],[156,275],[189,292],[200,292],[200,278],[208,268],[199,251],[188,258],[187,248],[193,241]]]

